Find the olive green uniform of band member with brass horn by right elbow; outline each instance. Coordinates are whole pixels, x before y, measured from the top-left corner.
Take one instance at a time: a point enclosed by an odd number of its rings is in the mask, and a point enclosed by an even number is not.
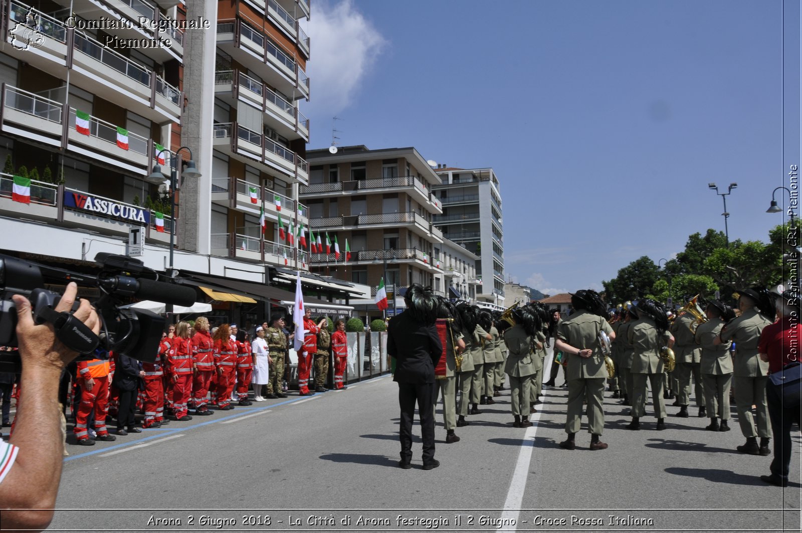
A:
[[[654,320],[650,318],[638,319],[632,323],[627,332],[627,338],[633,346],[632,354],[632,416],[642,417],[646,414],[646,380],[652,389],[652,405],[654,416],[666,417],[666,403],[662,393],[665,388],[666,375],[663,373],[665,365],[660,357],[660,348],[666,346],[671,338],[670,332],[657,331]]]

